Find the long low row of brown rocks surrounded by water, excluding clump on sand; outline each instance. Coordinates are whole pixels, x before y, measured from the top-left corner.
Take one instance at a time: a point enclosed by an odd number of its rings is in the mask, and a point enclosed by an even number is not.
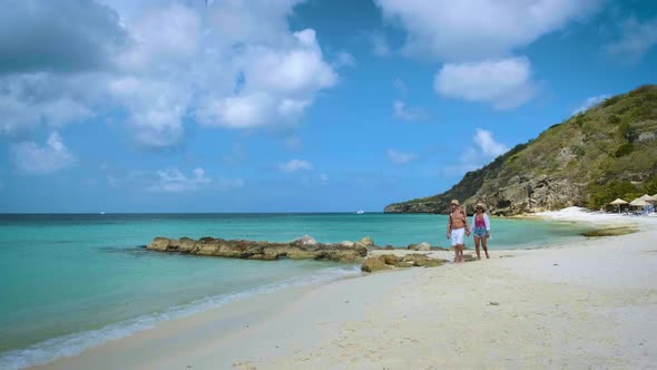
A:
[[[308,235],[288,243],[266,241],[223,240],[218,237],[167,238],[156,237],[147,245],[148,250],[194,255],[218,256],[247,260],[318,260],[341,263],[360,263],[367,255],[372,240],[347,244],[317,243]]]

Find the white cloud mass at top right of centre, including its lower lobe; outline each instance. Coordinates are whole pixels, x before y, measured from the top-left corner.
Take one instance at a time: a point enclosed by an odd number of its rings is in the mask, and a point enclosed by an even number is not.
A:
[[[510,109],[536,94],[529,60],[513,51],[589,17],[601,0],[375,2],[405,29],[406,56],[444,62],[434,84],[440,96]]]

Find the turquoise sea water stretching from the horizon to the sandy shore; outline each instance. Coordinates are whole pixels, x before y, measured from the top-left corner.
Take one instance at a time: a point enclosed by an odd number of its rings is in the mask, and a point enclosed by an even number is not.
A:
[[[490,250],[549,246],[582,226],[492,218]],[[447,217],[406,214],[0,215],[0,369],[71,356],[252,294],[360,274],[316,261],[245,261],[145,250],[155,236],[447,246]],[[467,245],[472,246],[471,238]]]

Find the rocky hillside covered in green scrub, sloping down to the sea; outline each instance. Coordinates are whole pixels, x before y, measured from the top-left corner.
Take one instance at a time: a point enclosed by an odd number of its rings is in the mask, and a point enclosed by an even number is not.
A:
[[[445,193],[391,204],[389,213],[447,213],[452,198],[468,210],[513,215],[586,205],[591,185],[646,182],[657,175],[657,86],[611,97],[469,172]]]

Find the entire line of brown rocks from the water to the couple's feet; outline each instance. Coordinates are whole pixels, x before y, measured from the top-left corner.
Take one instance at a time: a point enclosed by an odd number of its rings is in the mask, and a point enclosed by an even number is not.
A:
[[[146,246],[150,251],[193,254],[202,256],[217,256],[227,259],[246,259],[274,261],[280,259],[317,260],[339,263],[362,263],[364,272],[392,270],[394,267],[442,265],[445,260],[431,259],[422,252],[444,249],[430,246],[428,243],[411,244],[406,247],[409,254],[381,254],[369,252],[395,250],[388,245],[381,247],[372,238],[365,236],[357,242],[318,243],[310,235],[304,235],[287,243],[271,243],[266,241],[224,240],[219,237],[167,238],[156,237]],[[399,249],[396,249],[399,250]]]

